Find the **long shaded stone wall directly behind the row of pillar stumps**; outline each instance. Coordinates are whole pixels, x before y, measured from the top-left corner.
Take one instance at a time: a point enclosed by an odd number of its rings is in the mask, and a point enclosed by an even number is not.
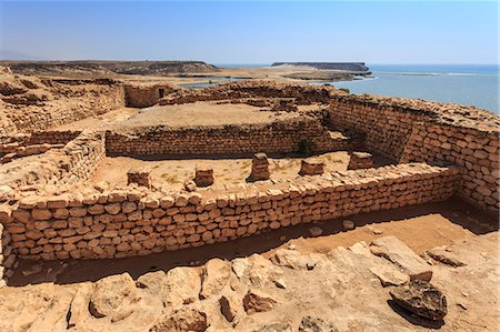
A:
[[[193,128],[134,128],[106,133],[110,155],[210,155],[296,152],[300,142],[313,151],[344,150],[349,138],[330,132],[313,118],[267,124]]]

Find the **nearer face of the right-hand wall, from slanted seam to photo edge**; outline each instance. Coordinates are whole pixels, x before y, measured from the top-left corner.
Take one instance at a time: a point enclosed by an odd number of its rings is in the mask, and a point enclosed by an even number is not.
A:
[[[459,194],[482,209],[499,211],[499,132],[419,122],[401,162],[452,163],[462,169]]]

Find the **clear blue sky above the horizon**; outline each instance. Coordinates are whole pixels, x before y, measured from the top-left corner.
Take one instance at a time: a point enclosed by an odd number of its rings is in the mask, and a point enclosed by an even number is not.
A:
[[[498,60],[496,1],[0,1],[3,59]]]

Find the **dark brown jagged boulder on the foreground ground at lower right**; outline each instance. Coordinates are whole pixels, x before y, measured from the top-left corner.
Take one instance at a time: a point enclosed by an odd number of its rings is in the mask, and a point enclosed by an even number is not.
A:
[[[429,320],[442,320],[448,313],[447,298],[427,281],[411,281],[391,290],[390,294],[406,310]]]

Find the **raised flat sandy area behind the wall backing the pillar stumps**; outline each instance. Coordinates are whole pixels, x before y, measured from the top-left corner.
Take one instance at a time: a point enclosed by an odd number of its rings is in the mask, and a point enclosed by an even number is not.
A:
[[[308,110],[310,107],[308,108]],[[299,109],[300,110],[300,109]],[[277,113],[263,108],[242,103],[193,102],[173,105],[156,105],[142,109],[139,113],[117,124],[121,127],[142,125],[220,125],[220,124],[248,124],[269,123],[274,120],[293,119],[298,112]]]

